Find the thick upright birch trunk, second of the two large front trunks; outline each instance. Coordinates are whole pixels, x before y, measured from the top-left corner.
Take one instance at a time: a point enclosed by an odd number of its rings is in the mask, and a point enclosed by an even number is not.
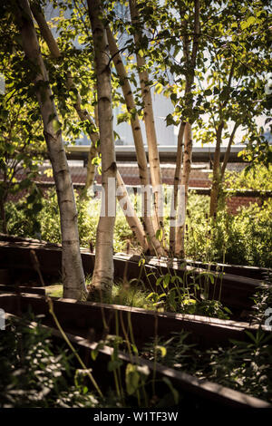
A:
[[[102,5],[100,0],[88,0],[89,16],[92,26],[94,61],[97,81],[98,117],[100,125],[100,148],[102,154],[102,189],[105,196],[105,214],[101,213],[95,248],[95,265],[92,287],[100,294],[111,294],[113,283],[113,228],[115,216],[110,214],[108,200],[109,179],[116,179],[116,160],[112,127],[112,85],[109,63],[108,41],[102,24]],[[114,206],[116,198],[111,199]],[[92,294],[91,294],[92,296]]]

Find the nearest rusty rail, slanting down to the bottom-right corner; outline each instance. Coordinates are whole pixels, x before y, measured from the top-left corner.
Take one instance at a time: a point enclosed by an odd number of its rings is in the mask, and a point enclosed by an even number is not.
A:
[[[6,319],[14,315],[6,315]],[[29,323],[30,327],[36,326],[36,323]],[[63,339],[62,334],[54,327],[42,325],[54,339]],[[111,361],[113,349],[107,345],[98,349],[98,356],[96,361],[92,361],[90,352],[97,348],[96,342],[91,342],[90,339],[85,339],[80,335],[66,333],[70,342],[76,348],[77,352],[81,354],[84,362],[88,367],[92,367],[92,374],[102,389],[108,389],[109,377],[107,365]],[[216,406],[228,406],[230,408],[271,408],[268,402],[259,400],[255,397],[248,396],[245,393],[233,391],[227,387],[221,386],[214,382],[199,380],[197,377],[188,373],[179,372],[162,364],[151,363],[141,357],[134,355],[129,356],[128,353],[119,352],[118,358],[121,360],[121,380],[125,386],[125,369],[128,363],[134,363],[141,366],[148,367],[151,372],[151,377],[155,374],[156,377],[156,393],[163,396],[169,392],[166,382],[163,379],[169,379],[175,389],[181,393],[181,407],[183,406],[199,406],[207,408]],[[154,371],[155,369],[155,371]],[[151,386],[151,385],[150,385]]]

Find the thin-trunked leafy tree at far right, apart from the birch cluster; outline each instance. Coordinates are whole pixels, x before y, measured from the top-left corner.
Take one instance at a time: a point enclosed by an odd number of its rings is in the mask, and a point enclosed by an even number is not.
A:
[[[229,21],[229,11],[219,16],[228,34],[228,43],[217,41],[209,46],[210,65],[206,78],[199,81],[202,105],[208,120],[199,117],[197,135],[201,143],[214,142],[212,184],[209,216],[216,218],[224,207],[223,182],[232,144],[239,142],[262,145],[262,128],[256,118],[267,115],[265,102],[268,53],[267,2],[257,2],[251,8],[242,4],[231,8],[235,23]],[[208,87],[204,87],[209,82]],[[226,144],[224,156],[221,152]]]

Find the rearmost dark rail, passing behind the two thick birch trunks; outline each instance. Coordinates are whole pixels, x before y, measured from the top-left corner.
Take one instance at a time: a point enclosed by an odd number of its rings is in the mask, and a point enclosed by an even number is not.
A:
[[[2,235],[0,236],[0,284],[23,283],[25,285],[24,283],[29,281],[39,282],[30,254],[33,250],[38,258],[44,282],[52,284],[53,281],[60,281],[62,269],[60,245]],[[85,274],[92,274],[95,255],[83,248],[82,258]],[[252,296],[257,288],[269,286],[264,284],[264,280],[267,276],[271,276],[271,270],[250,266],[208,265],[197,262],[192,263],[193,266],[185,266],[182,261],[154,257],[147,257],[144,264],[140,265],[139,262],[138,256],[115,255],[115,278],[133,280],[132,286],[137,283],[139,286],[143,285],[151,290],[156,288],[156,291],[160,291],[160,287],[156,286],[159,276],[176,275],[188,285],[194,282],[203,284],[207,280],[205,273],[210,270],[214,276],[214,284],[209,285],[209,296],[220,298],[222,304],[231,309],[234,317],[239,317],[243,311],[251,309]],[[231,274],[225,271],[231,271]],[[170,286],[173,285],[170,283]]]

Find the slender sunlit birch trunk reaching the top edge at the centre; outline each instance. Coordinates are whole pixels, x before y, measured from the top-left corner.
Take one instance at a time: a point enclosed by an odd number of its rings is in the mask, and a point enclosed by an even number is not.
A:
[[[137,23],[139,13],[136,0],[130,0],[131,21]],[[141,45],[141,32],[134,33],[136,47]],[[155,129],[155,120],[153,112],[153,102],[151,95],[151,87],[149,85],[149,74],[143,70],[145,60],[140,54],[136,54],[138,73],[141,84],[141,97],[143,101],[144,124],[146,131],[146,139],[149,150],[149,163],[151,168],[151,184],[154,194],[154,228],[155,231],[163,229],[163,189],[160,173],[160,157],[158,150],[157,134]]]

